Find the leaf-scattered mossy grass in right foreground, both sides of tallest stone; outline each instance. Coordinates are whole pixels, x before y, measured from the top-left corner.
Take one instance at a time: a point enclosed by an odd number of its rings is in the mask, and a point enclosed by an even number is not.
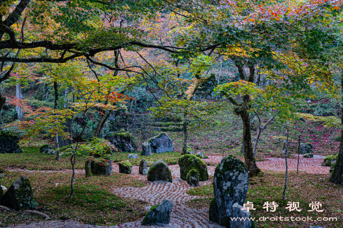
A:
[[[252,217],[336,217],[337,221],[256,221],[258,227],[275,228],[303,228],[311,226],[324,226],[327,228],[343,227],[343,186],[334,185],[328,181],[328,174],[308,174],[301,172],[289,173],[288,190],[286,200],[282,201],[282,191],[285,185],[284,173],[275,173],[264,170],[264,177],[254,177],[249,180],[249,190],[246,201],[253,202],[255,211],[250,211]],[[188,190],[189,195],[207,196],[207,198],[187,201],[190,208],[208,208],[213,197],[212,185],[193,188]],[[276,202],[279,207],[276,212],[266,212],[263,209],[265,202]],[[308,212],[311,208],[309,203],[319,201],[324,212]],[[289,212],[288,202],[299,202],[301,212]]]

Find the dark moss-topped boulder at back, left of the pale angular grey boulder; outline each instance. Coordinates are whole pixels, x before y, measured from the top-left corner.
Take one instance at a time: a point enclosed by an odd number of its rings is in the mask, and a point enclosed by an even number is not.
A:
[[[107,139],[119,152],[136,152],[134,136],[128,131],[114,133]],[[115,151],[114,151],[115,152]]]

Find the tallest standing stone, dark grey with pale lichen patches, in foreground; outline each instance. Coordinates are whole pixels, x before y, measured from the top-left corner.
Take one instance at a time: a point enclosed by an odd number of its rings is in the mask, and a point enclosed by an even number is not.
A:
[[[233,155],[223,157],[213,176],[214,198],[209,206],[209,220],[231,227],[232,206],[243,206],[247,197],[249,176],[244,163]]]

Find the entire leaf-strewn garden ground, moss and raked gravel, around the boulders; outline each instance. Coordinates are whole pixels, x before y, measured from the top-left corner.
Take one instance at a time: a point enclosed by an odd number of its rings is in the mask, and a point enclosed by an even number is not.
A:
[[[189,144],[196,152],[202,151],[208,158],[203,161],[208,165],[209,181],[199,187],[192,188],[180,179],[177,159],[180,156],[182,132],[167,132],[173,140],[176,152],[140,156],[129,159],[134,165],[133,174],[120,174],[116,162],[127,159],[128,153],[115,154],[113,172],[110,176],[84,177],[83,162],[77,163],[75,195],[68,198],[70,189],[70,162],[62,156],[60,162],[54,155],[40,154],[38,147],[44,141],[34,141],[27,147],[23,145],[22,154],[0,154],[0,167],[5,168],[6,176],[0,179],[7,188],[21,175],[27,176],[32,184],[34,195],[39,203],[39,210],[47,213],[51,220],[44,221],[39,216],[23,212],[4,212],[0,210],[0,226],[9,227],[139,227],[146,211],[162,199],[174,203],[171,221],[168,227],[221,227],[208,221],[208,206],[213,197],[212,178],[215,166],[223,156],[234,154],[244,159],[240,153],[242,129],[237,117],[222,116],[215,124],[199,134],[191,134]],[[209,129],[210,128],[210,129]],[[274,136],[280,136],[282,126],[270,125],[262,134],[259,143],[257,165],[263,170],[264,177],[250,178],[247,200],[254,203],[252,216],[283,217],[335,217],[338,221],[257,221],[258,227],[343,227],[343,186],[330,181],[329,167],[321,167],[323,158],[338,151],[339,142],[336,134],[332,145],[329,145],[334,128],[310,126],[305,131],[302,142],[310,142],[314,146],[314,158],[299,159],[297,168],[297,135],[290,135],[289,146],[289,183],[286,201],[282,201],[285,184],[285,158],[281,155],[282,142]],[[145,139],[133,131],[137,145],[147,138],[156,135],[158,129],[151,127],[146,131]],[[337,131],[339,132],[339,131]],[[255,133],[253,133],[253,137]],[[49,143],[49,142],[48,142]],[[140,149],[140,148],[138,148]],[[173,174],[173,183],[150,183],[146,176],[138,174],[140,159],[150,162],[162,158]],[[266,212],[263,203],[275,201],[280,207],[275,213]],[[288,201],[299,202],[301,212],[289,212],[285,209]],[[324,212],[308,212],[309,203],[320,201]],[[61,220],[66,219],[66,221]],[[35,223],[39,222],[39,223]],[[81,222],[81,223],[80,223]],[[17,226],[18,224],[23,224]],[[87,225],[88,224],[88,225]]]

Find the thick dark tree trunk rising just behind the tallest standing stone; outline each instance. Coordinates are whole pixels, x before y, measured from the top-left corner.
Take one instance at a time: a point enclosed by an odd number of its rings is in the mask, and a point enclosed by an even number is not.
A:
[[[243,122],[244,160],[248,170],[249,177],[263,175],[263,172],[256,165],[255,157],[252,151],[249,111],[242,111],[241,118]]]

